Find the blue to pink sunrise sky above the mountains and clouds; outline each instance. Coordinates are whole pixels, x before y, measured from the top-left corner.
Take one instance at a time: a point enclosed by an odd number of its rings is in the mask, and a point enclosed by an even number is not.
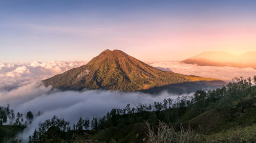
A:
[[[90,61],[120,49],[142,61],[256,51],[256,1],[0,0],[0,63]]]

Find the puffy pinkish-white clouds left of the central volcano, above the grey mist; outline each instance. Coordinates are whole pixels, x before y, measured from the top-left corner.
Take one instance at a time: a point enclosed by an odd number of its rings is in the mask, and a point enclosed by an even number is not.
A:
[[[84,61],[51,61],[30,64],[0,63],[0,90],[11,90],[20,85],[40,81],[87,63]]]

